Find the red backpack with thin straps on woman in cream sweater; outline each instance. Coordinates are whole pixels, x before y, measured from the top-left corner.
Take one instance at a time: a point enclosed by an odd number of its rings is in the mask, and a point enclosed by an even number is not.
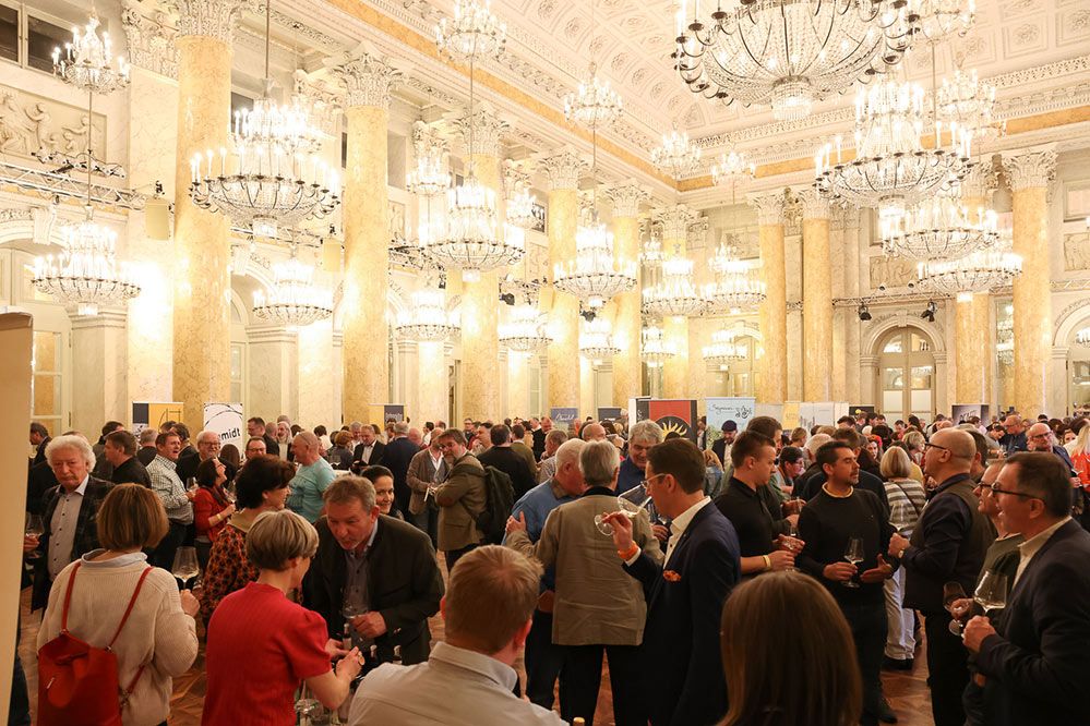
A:
[[[136,590],[129,600],[129,607],[121,616],[117,632],[106,648],[95,648],[68,631],[68,610],[72,589],[82,561],[72,568],[64,593],[61,612],[61,631],[38,651],[38,724],[39,726],[121,726],[121,709],[129,701],[132,689],[144,673],[136,669],[129,687],[121,690],[118,679],[118,657],[113,643],[136,604],[140,589],[144,586],[148,567],[140,576]]]

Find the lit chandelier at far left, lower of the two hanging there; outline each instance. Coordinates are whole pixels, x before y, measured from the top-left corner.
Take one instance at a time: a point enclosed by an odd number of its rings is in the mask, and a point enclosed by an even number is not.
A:
[[[86,218],[61,228],[63,251],[34,261],[32,280],[57,302],[75,305],[77,315],[97,315],[100,306],[119,306],[140,294],[136,275],[117,262],[117,232]]]

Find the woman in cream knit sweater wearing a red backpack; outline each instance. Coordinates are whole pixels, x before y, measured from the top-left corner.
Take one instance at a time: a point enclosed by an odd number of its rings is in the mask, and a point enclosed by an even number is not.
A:
[[[98,541],[105,549],[84,554],[53,581],[38,630],[38,649],[60,633],[64,595],[73,571],[68,629],[76,638],[105,648],[149,567],[141,549],[157,545],[167,529],[167,513],[155,492],[139,484],[115,486],[98,510]],[[166,724],[173,691],[171,679],[185,673],[196,657],[193,616],[199,608],[188,590],[178,592],[172,574],[152,568],[113,643],[121,688],[128,688],[144,667],[121,709],[124,726]]]

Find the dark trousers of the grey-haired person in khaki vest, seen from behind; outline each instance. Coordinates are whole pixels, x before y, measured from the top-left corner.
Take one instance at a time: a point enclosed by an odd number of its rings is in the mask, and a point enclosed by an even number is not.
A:
[[[646,726],[647,709],[640,687],[639,648],[636,645],[565,645],[560,671],[560,715],[566,722],[582,716],[594,726],[598,689],[602,680],[602,653],[609,658],[616,726]]]

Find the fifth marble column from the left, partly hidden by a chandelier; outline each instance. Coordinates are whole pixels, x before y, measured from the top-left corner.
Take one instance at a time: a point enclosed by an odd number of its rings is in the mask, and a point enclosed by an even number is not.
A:
[[[616,315],[613,339],[621,352],[613,356],[613,406],[622,408],[630,398],[642,395],[639,365],[639,204],[650,198],[650,193],[630,179],[606,190],[613,202],[613,250],[624,262],[636,262],[636,287],[613,299]]]

